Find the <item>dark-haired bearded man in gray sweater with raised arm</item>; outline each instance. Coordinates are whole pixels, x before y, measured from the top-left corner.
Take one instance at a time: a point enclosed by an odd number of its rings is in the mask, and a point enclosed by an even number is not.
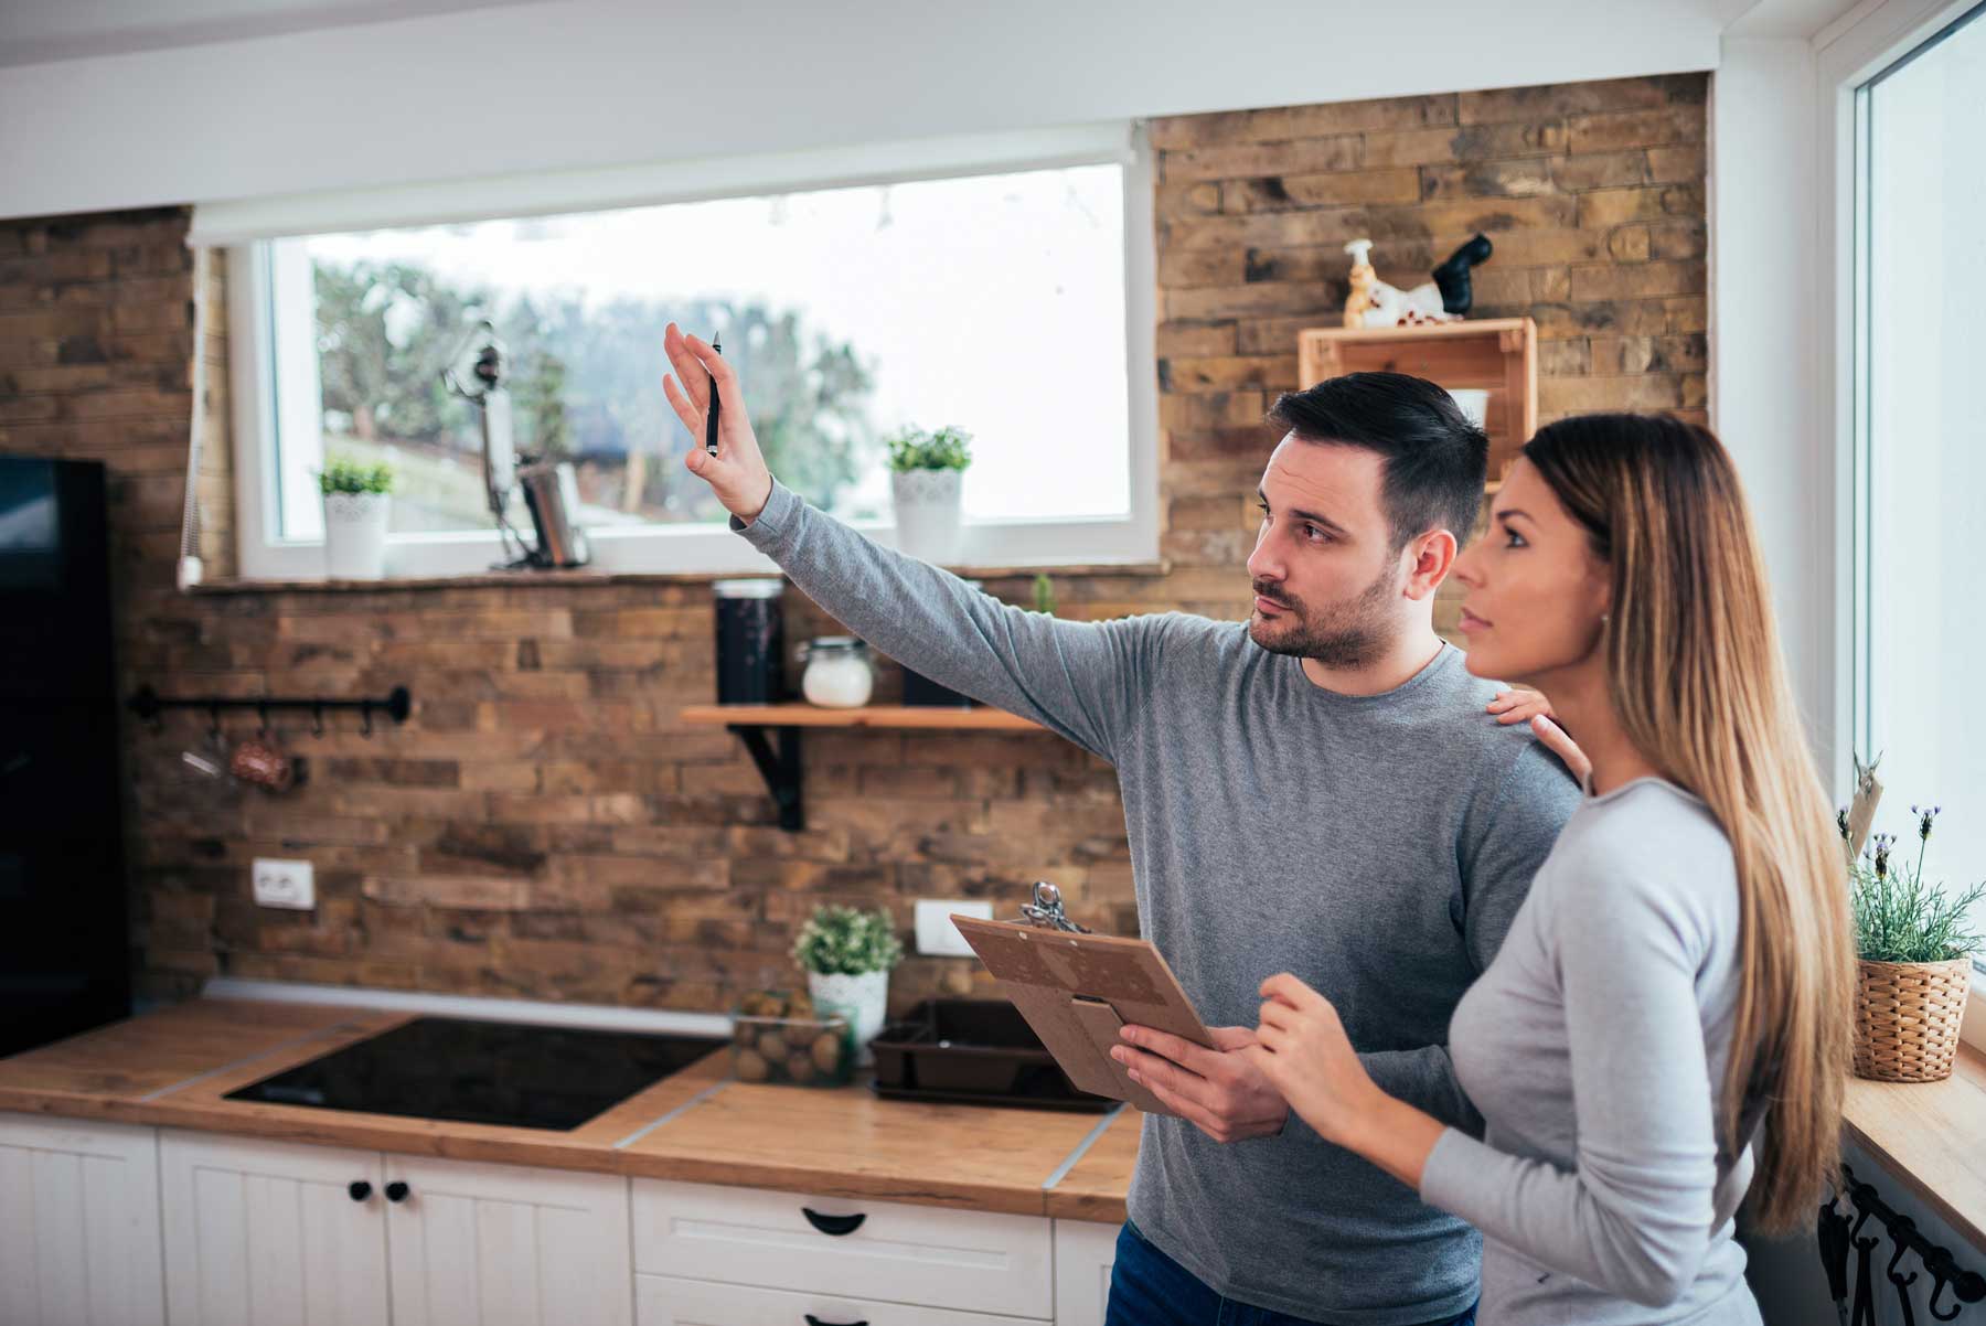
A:
[[[1126,1028],[1118,1056],[1178,1118],[1144,1122],[1112,1326],[1468,1322],[1476,1231],[1293,1120],[1237,1050],[1259,983],[1287,969],[1337,1004],[1380,1086],[1482,1127],[1448,1018],[1579,796],[1527,732],[1484,719],[1541,701],[1491,701],[1434,633],[1484,433],[1398,373],[1289,393],[1249,621],[1078,623],[810,510],[767,470],[731,367],[673,326],[665,349],[691,437],[715,379],[719,451],[687,464],[733,528],[884,653],[1116,764],[1144,935],[1219,1048]]]

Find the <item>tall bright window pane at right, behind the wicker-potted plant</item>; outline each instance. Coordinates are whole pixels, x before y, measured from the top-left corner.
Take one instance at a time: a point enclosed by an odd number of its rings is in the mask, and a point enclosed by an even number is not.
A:
[[[1926,877],[1986,873],[1986,6],[1855,91],[1853,740]],[[1986,929],[1986,907],[1976,917]],[[1986,971],[1986,969],[1982,969]]]

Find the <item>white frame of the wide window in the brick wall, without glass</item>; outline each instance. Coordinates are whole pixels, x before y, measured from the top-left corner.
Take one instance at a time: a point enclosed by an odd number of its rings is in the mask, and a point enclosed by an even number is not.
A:
[[[195,208],[191,242],[228,248],[228,363],[234,397],[236,556],[246,580],[322,580],[322,540],[284,540],[278,502],[278,423],[318,427],[318,365],[278,361],[274,318],[298,298],[296,274],[270,260],[266,240],[433,224],[487,216],[604,210],[912,179],[987,175],[1066,165],[1124,167],[1124,363],[1130,512],[1086,520],[969,520],[957,566],[1134,566],[1158,560],[1158,254],[1152,155],[1144,127],[1078,125],[1037,133],[920,139],[866,149],[780,153],[614,171],[411,185],[342,195],[214,202]],[[308,361],[306,361],[308,359]],[[888,524],[860,524],[894,544]],[[528,530],[526,530],[528,534]],[[588,530],[592,566],[614,574],[765,574],[773,564],[723,526]],[[489,532],[395,534],[387,578],[475,576],[502,560]]]

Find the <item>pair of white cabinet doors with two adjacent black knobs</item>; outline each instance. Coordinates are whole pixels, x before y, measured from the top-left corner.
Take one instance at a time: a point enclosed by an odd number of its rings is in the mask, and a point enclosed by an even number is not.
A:
[[[179,1131],[161,1157],[173,1326],[634,1316],[626,1179]]]

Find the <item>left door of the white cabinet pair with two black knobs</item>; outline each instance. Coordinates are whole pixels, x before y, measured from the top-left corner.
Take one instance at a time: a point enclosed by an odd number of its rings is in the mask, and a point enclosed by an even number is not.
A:
[[[167,1129],[159,1159],[173,1326],[387,1320],[377,1151]]]

